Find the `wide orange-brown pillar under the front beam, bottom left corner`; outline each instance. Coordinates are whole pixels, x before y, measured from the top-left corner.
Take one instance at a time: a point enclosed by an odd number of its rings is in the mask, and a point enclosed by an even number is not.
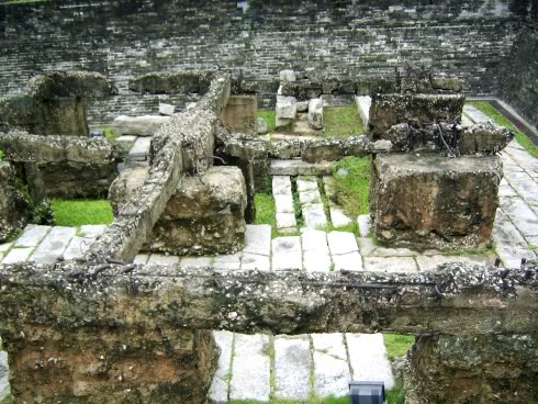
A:
[[[10,328],[15,403],[205,403],[218,348],[209,330]]]

